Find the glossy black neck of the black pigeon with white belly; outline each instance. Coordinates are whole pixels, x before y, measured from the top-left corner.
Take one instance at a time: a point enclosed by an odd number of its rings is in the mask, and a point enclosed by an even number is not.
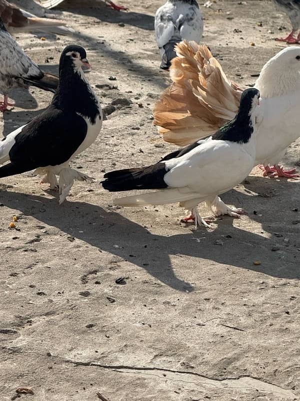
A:
[[[76,112],[92,124],[100,115],[98,99],[82,69],[73,65],[59,70],[59,83],[52,104],[61,110]]]

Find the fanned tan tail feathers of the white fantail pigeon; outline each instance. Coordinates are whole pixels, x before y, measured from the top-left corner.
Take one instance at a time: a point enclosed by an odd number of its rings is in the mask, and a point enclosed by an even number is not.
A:
[[[205,45],[180,42],[172,60],[172,84],[154,106],[154,125],[166,142],[186,145],[231,120],[241,89],[231,83]]]

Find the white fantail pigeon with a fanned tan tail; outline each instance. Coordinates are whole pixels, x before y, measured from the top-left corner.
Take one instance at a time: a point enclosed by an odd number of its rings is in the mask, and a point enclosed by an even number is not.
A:
[[[154,107],[154,124],[164,140],[186,145],[213,132],[236,113],[242,90],[230,82],[204,45],[181,42],[170,68],[172,85]],[[295,178],[278,163],[299,133],[300,48],[287,47],[261,69],[255,85],[263,118],[257,131],[256,160],[263,175]]]

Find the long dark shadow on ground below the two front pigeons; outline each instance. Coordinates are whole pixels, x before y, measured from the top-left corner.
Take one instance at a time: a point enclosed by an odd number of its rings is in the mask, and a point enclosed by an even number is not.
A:
[[[234,191],[226,196],[230,197],[234,204]],[[238,196],[242,198],[243,206],[250,208],[250,205],[245,205],[249,196],[240,193]],[[258,207],[265,201],[259,196],[251,196],[251,202],[253,198],[258,199],[258,203],[261,204]],[[164,236],[152,234],[147,228],[128,220],[120,213],[107,211],[100,206],[85,202],[65,201],[59,206],[55,198],[49,199],[10,190],[1,191],[0,199],[8,208],[19,210],[25,216],[34,216],[40,222],[54,226],[93,247],[129,260],[178,291],[192,291],[193,287],[176,277],[171,256],[201,258],[207,260],[207,263],[215,261],[278,278],[300,278],[300,271],[292,254],[297,252],[293,244],[290,244],[289,248],[282,248],[288,254],[281,259],[280,253],[271,251],[274,245],[273,238],[233,227],[232,219],[229,217],[217,220],[217,229],[209,233],[200,227],[192,232],[186,228],[185,234]],[[231,203],[227,199],[224,200]],[[268,200],[274,207],[276,199]],[[282,217],[284,218],[285,216]],[[259,219],[261,218],[257,215],[257,220]],[[267,223],[269,222],[266,221],[265,224]],[[241,219],[239,226],[242,225]],[[223,246],[215,244],[219,239],[222,239]],[[144,245],[147,245],[146,252]],[[259,260],[261,264],[253,265],[254,260]]]

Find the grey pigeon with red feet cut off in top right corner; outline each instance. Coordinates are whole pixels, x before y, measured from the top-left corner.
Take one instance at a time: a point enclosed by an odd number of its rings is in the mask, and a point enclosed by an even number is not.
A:
[[[277,41],[286,43],[300,43],[300,0],[273,0],[273,3],[280,8],[289,18],[291,33],[286,38],[277,38]],[[297,37],[294,34],[298,32]]]

